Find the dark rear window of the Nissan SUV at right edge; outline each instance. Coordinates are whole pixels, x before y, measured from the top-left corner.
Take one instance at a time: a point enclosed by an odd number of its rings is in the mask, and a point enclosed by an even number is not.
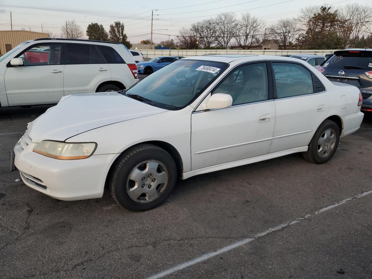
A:
[[[372,70],[372,51],[336,51],[322,66],[327,69]]]

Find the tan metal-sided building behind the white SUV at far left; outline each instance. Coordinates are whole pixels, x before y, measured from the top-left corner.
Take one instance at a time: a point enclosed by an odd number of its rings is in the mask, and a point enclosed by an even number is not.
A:
[[[47,33],[27,30],[0,31],[0,55],[5,54],[24,41],[48,37]]]

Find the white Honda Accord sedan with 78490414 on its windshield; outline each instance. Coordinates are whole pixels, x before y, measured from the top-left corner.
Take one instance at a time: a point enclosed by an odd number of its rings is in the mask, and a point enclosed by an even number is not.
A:
[[[361,104],[357,87],[295,58],[190,57],[123,92],[63,97],[28,125],[14,163],[53,198],[100,198],[108,185],[119,205],[147,210],[177,177],[296,152],[325,163],[359,128]]]

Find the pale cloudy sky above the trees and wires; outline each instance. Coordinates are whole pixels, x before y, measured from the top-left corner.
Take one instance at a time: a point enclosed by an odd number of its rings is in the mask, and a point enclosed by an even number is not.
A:
[[[190,27],[203,19],[209,19],[221,12],[235,12],[263,18],[268,25],[281,18],[298,15],[305,6],[323,5],[324,0],[188,0],[188,1],[24,1],[0,0],[0,30],[10,30],[10,12],[12,12],[13,30],[41,32],[49,31],[60,36],[61,25],[65,20],[75,20],[81,26],[84,37],[89,23],[98,22],[108,31],[115,20],[125,25],[125,33],[131,43],[150,39],[151,10],[154,12],[153,41],[160,42],[176,39],[182,27]],[[371,5],[371,0],[330,0],[328,5],[340,6],[348,3]],[[167,30],[165,30],[167,29]],[[146,34],[146,35],[144,35]]]

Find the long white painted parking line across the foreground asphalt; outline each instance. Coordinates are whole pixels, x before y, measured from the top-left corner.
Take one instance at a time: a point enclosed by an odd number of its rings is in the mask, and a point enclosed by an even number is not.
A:
[[[164,276],[170,275],[171,273],[174,273],[174,272],[177,272],[179,270],[185,269],[186,267],[192,266],[194,264],[197,264],[197,263],[200,263],[200,262],[204,262],[206,260],[211,259],[214,256],[217,256],[219,254],[225,253],[225,252],[230,251],[232,249],[235,249],[237,247],[243,246],[243,245],[245,245],[247,243],[250,243],[250,242],[252,242],[253,240],[256,240],[259,237],[263,237],[263,236],[265,236],[265,235],[267,235],[267,234],[269,234],[271,232],[279,231],[279,230],[281,230],[281,229],[283,229],[285,227],[288,227],[290,225],[293,225],[293,224],[296,224],[298,222],[301,222],[302,220],[304,220],[306,218],[315,216],[315,215],[317,215],[319,213],[322,213],[322,212],[327,211],[329,209],[335,208],[335,207],[337,207],[339,205],[342,205],[342,204],[344,204],[346,202],[352,201],[353,199],[359,199],[359,198],[361,198],[363,196],[366,196],[366,195],[369,195],[369,194],[372,194],[372,190],[366,191],[366,192],[363,192],[363,193],[360,193],[360,194],[358,194],[356,196],[353,196],[351,198],[344,199],[344,200],[342,200],[340,202],[337,202],[337,203],[334,203],[332,205],[328,205],[328,206],[326,206],[326,207],[324,207],[322,209],[319,209],[319,210],[315,211],[313,214],[306,214],[304,217],[301,217],[301,218],[298,218],[298,219],[295,219],[295,220],[292,220],[292,221],[289,221],[289,222],[284,222],[284,223],[282,223],[282,224],[280,224],[280,225],[278,225],[278,226],[276,226],[274,228],[269,228],[266,231],[260,232],[260,233],[258,233],[256,235],[254,235],[253,237],[245,238],[243,240],[240,240],[238,242],[235,242],[233,244],[230,244],[228,246],[225,246],[225,247],[223,247],[223,248],[221,248],[221,249],[219,249],[217,251],[203,254],[200,257],[197,257],[197,258],[195,258],[193,260],[190,260],[188,262],[185,262],[185,263],[178,264],[178,265],[176,265],[174,267],[171,267],[170,269],[164,270],[164,271],[162,271],[160,273],[157,273],[157,274],[155,274],[153,276],[147,277],[146,279],[163,278]]]

